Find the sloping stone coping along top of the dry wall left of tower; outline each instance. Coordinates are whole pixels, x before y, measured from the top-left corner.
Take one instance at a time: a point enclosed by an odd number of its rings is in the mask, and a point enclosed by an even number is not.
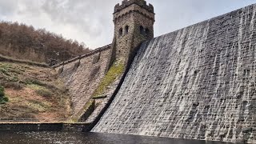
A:
[[[83,55],[80,55],[80,56],[78,56],[78,57],[76,57],[76,58],[71,58],[70,60],[67,60],[67,61],[64,61],[64,62],[60,62],[60,63],[58,63],[57,65],[52,66],[52,68],[57,68],[58,66],[66,65],[66,64],[68,64],[68,63],[70,63],[70,62],[74,62],[74,61],[77,61],[77,60],[79,60],[79,59],[89,57],[89,56],[91,56],[91,55],[97,54],[97,53],[102,52],[102,51],[104,51],[104,50],[109,50],[109,49],[111,49],[111,46],[112,46],[112,44],[99,47],[99,48],[97,48],[97,49],[91,51],[91,52],[88,53],[88,54],[83,54]]]

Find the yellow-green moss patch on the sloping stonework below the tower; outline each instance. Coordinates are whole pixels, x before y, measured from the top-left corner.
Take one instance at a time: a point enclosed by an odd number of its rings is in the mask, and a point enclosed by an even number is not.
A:
[[[120,77],[124,70],[125,66],[123,62],[114,62],[110,67],[110,70],[106,73],[105,77],[98,85],[98,88],[94,91],[93,98],[102,97],[102,94],[108,89],[108,86],[110,86],[110,84],[112,84],[116,78]]]

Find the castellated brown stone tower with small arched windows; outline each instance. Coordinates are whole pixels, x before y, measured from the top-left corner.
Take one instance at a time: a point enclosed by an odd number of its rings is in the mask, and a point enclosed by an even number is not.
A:
[[[123,0],[114,6],[113,57],[127,62],[138,46],[154,38],[154,7],[145,0]]]

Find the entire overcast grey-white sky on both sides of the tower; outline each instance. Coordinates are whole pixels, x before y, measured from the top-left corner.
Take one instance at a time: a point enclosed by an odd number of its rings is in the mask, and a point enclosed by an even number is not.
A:
[[[113,39],[114,5],[122,0],[0,0],[0,20],[26,23],[86,43]],[[147,0],[154,5],[154,36],[256,3],[255,0]]]

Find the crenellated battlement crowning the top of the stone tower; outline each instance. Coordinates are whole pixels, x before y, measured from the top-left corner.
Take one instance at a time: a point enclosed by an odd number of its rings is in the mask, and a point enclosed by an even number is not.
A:
[[[117,13],[118,11],[125,9],[126,7],[132,4],[141,6],[143,9],[148,10],[151,13],[154,13],[154,6],[151,4],[147,5],[145,0],[123,0],[122,5],[118,3],[116,6],[114,6],[114,13]]]

